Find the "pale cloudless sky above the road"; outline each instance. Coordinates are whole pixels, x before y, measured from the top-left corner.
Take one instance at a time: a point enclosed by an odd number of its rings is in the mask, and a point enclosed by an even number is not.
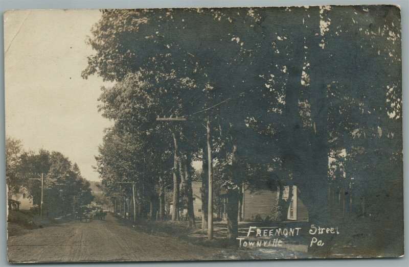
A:
[[[103,130],[98,113],[102,78],[81,78],[93,54],[86,44],[98,10],[17,10],[4,14],[6,135],[25,150],[58,151],[98,181],[94,156]]]

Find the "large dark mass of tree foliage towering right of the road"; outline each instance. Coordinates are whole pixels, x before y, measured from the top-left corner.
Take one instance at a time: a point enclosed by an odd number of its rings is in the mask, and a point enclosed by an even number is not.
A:
[[[330,188],[367,205],[351,217],[402,199],[397,8],[103,10],[92,32],[96,53],[83,77],[116,82],[100,97],[103,116],[115,122],[97,158],[106,190],[125,190],[117,182],[126,180],[160,194],[156,185],[172,187],[173,178],[177,194],[198,159],[207,199],[209,117],[229,238],[243,185],[298,185],[314,222],[330,218]],[[398,171],[385,172],[391,168]]]

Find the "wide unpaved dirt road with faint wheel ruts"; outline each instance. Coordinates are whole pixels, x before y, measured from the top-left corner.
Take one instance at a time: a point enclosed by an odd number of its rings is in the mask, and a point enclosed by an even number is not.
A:
[[[64,223],[8,240],[10,262],[152,261],[212,259],[219,250],[152,236],[106,221]]]

